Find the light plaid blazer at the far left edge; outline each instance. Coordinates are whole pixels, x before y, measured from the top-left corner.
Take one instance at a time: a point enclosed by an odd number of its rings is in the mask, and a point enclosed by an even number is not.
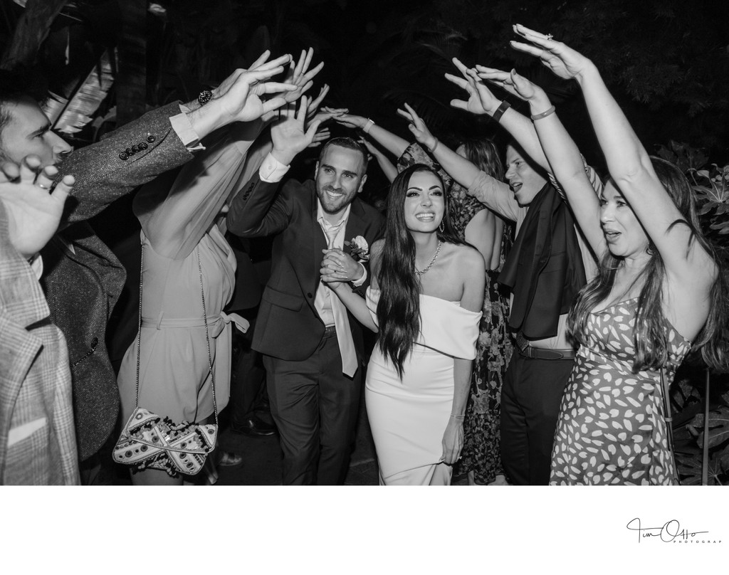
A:
[[[79,482],[66,341],[0,200],[0,484]]]

